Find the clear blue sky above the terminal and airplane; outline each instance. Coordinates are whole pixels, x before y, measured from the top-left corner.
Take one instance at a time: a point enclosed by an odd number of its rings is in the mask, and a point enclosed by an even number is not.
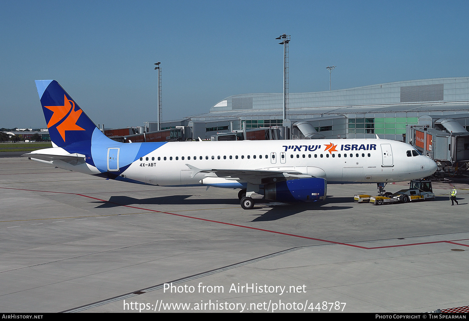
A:
[[[0,127],[45,127],[55,79],[106,128],[208,112],[227,96],[469,76],[468,1],[1,1]]]

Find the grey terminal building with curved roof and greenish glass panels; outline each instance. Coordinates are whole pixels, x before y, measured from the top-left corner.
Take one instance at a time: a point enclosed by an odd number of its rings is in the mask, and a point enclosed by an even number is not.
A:
[[[377,134],[405,141],[406,125],[419,124],[424,115],[457,115],[454,118],[468,129],[469,77],[290,93],[285,121],[282,108],[282,93],[239,94],[222,99],[206,114],[164,122],[162,127],[186,126],[184,136],[195,139],[242,130],[245,122],[246,130],[286,126],[286,139],[375,138]]]

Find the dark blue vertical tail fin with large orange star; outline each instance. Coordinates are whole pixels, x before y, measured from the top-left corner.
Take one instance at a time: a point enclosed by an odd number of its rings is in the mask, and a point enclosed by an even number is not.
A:
[[[55,80],[36,80],[36,87],[49,135],[55,145],[69,153],[87,155],[90,157],[87,162],[92,163],[91,138],[113,142]]]

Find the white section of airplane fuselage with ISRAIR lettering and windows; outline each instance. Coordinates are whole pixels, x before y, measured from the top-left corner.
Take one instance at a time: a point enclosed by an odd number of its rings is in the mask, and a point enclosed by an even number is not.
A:
[[[148,184],[178,186],[200,185],[204,178],[204,173],[191,177],[196,171],[188,165],[297,171],[321,177],[317,174],[324,171],[327,183],[390,183],[433,174],[435,162],[422,155],[408,156],[412,150],[408,144],[386,139],[169,142],[134,161],[122,175]]]

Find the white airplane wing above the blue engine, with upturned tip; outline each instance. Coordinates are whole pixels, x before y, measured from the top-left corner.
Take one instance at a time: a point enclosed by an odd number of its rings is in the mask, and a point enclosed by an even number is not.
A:
[[[186,164],[193,170],[192,177],[198,173],[206,173],[206,177],[222,177],[232,180],[243,180],[253,184],[280,182],[294,178],[312,177],[295,170],[268,170],[268,169],[199,169]]]

